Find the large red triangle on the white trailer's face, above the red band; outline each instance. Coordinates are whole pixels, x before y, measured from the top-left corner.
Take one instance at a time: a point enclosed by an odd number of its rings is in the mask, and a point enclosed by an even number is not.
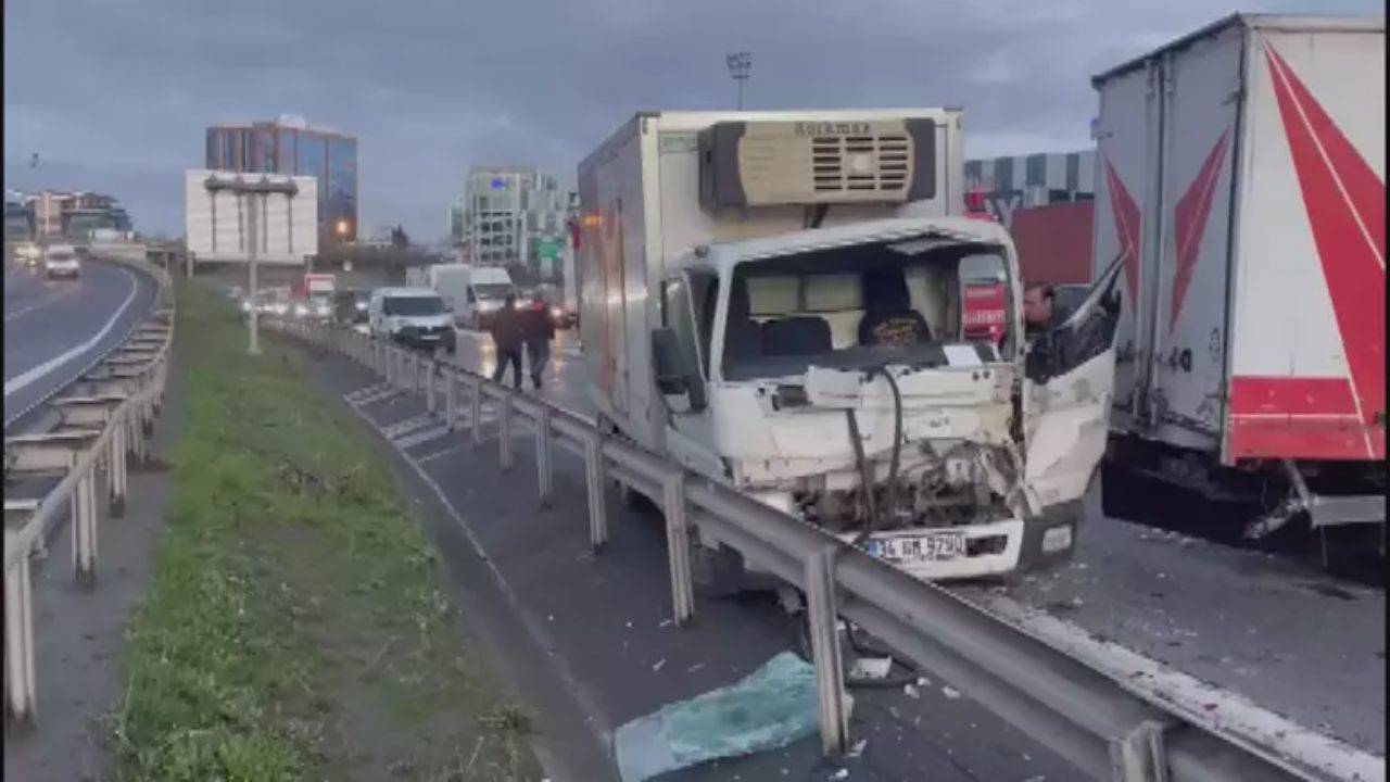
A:
[[[1279,53],[1265,43],[1279,117],[1351,369],[1365,449],[1384,458],[1386,185]]]

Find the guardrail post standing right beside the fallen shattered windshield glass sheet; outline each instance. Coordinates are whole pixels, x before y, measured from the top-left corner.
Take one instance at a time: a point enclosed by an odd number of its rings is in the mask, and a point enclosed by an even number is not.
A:
[[[810,626],[810,654],[816,662],[820,694],[820,749],[842,754],[849,739],[849,710],[840,661],[838,612],[835,608],[835,554],[827,545],[806,561],[806,623]]]

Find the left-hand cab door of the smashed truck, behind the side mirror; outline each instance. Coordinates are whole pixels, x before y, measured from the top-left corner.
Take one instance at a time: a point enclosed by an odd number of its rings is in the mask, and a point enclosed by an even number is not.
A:
[[[709,388],[709,345],[714,328],[719,277],[708,271],[682,271],[662,280],[662,326],[676,333],[676,341],[689,366],[699,367],[699,381]],[[713,449],[713,424],[708,408],[692,404],[689,395],[663,392],[666,449],[681,465],[703,474],[723,473]]]

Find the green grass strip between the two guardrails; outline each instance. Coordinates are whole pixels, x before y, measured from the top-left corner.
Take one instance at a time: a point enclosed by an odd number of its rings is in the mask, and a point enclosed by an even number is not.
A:
[[[182,431],[110,717],[126,779],[538,779],[384,455],[231,303],[179,291]]]

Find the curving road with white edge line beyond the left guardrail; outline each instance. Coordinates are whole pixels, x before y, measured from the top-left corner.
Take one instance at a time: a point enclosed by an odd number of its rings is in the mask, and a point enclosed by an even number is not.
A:
[[[4,416],[25,413],[120,344],[154,302],[154,284],[121,266],[88,260],[76,280],[4,264]]]

